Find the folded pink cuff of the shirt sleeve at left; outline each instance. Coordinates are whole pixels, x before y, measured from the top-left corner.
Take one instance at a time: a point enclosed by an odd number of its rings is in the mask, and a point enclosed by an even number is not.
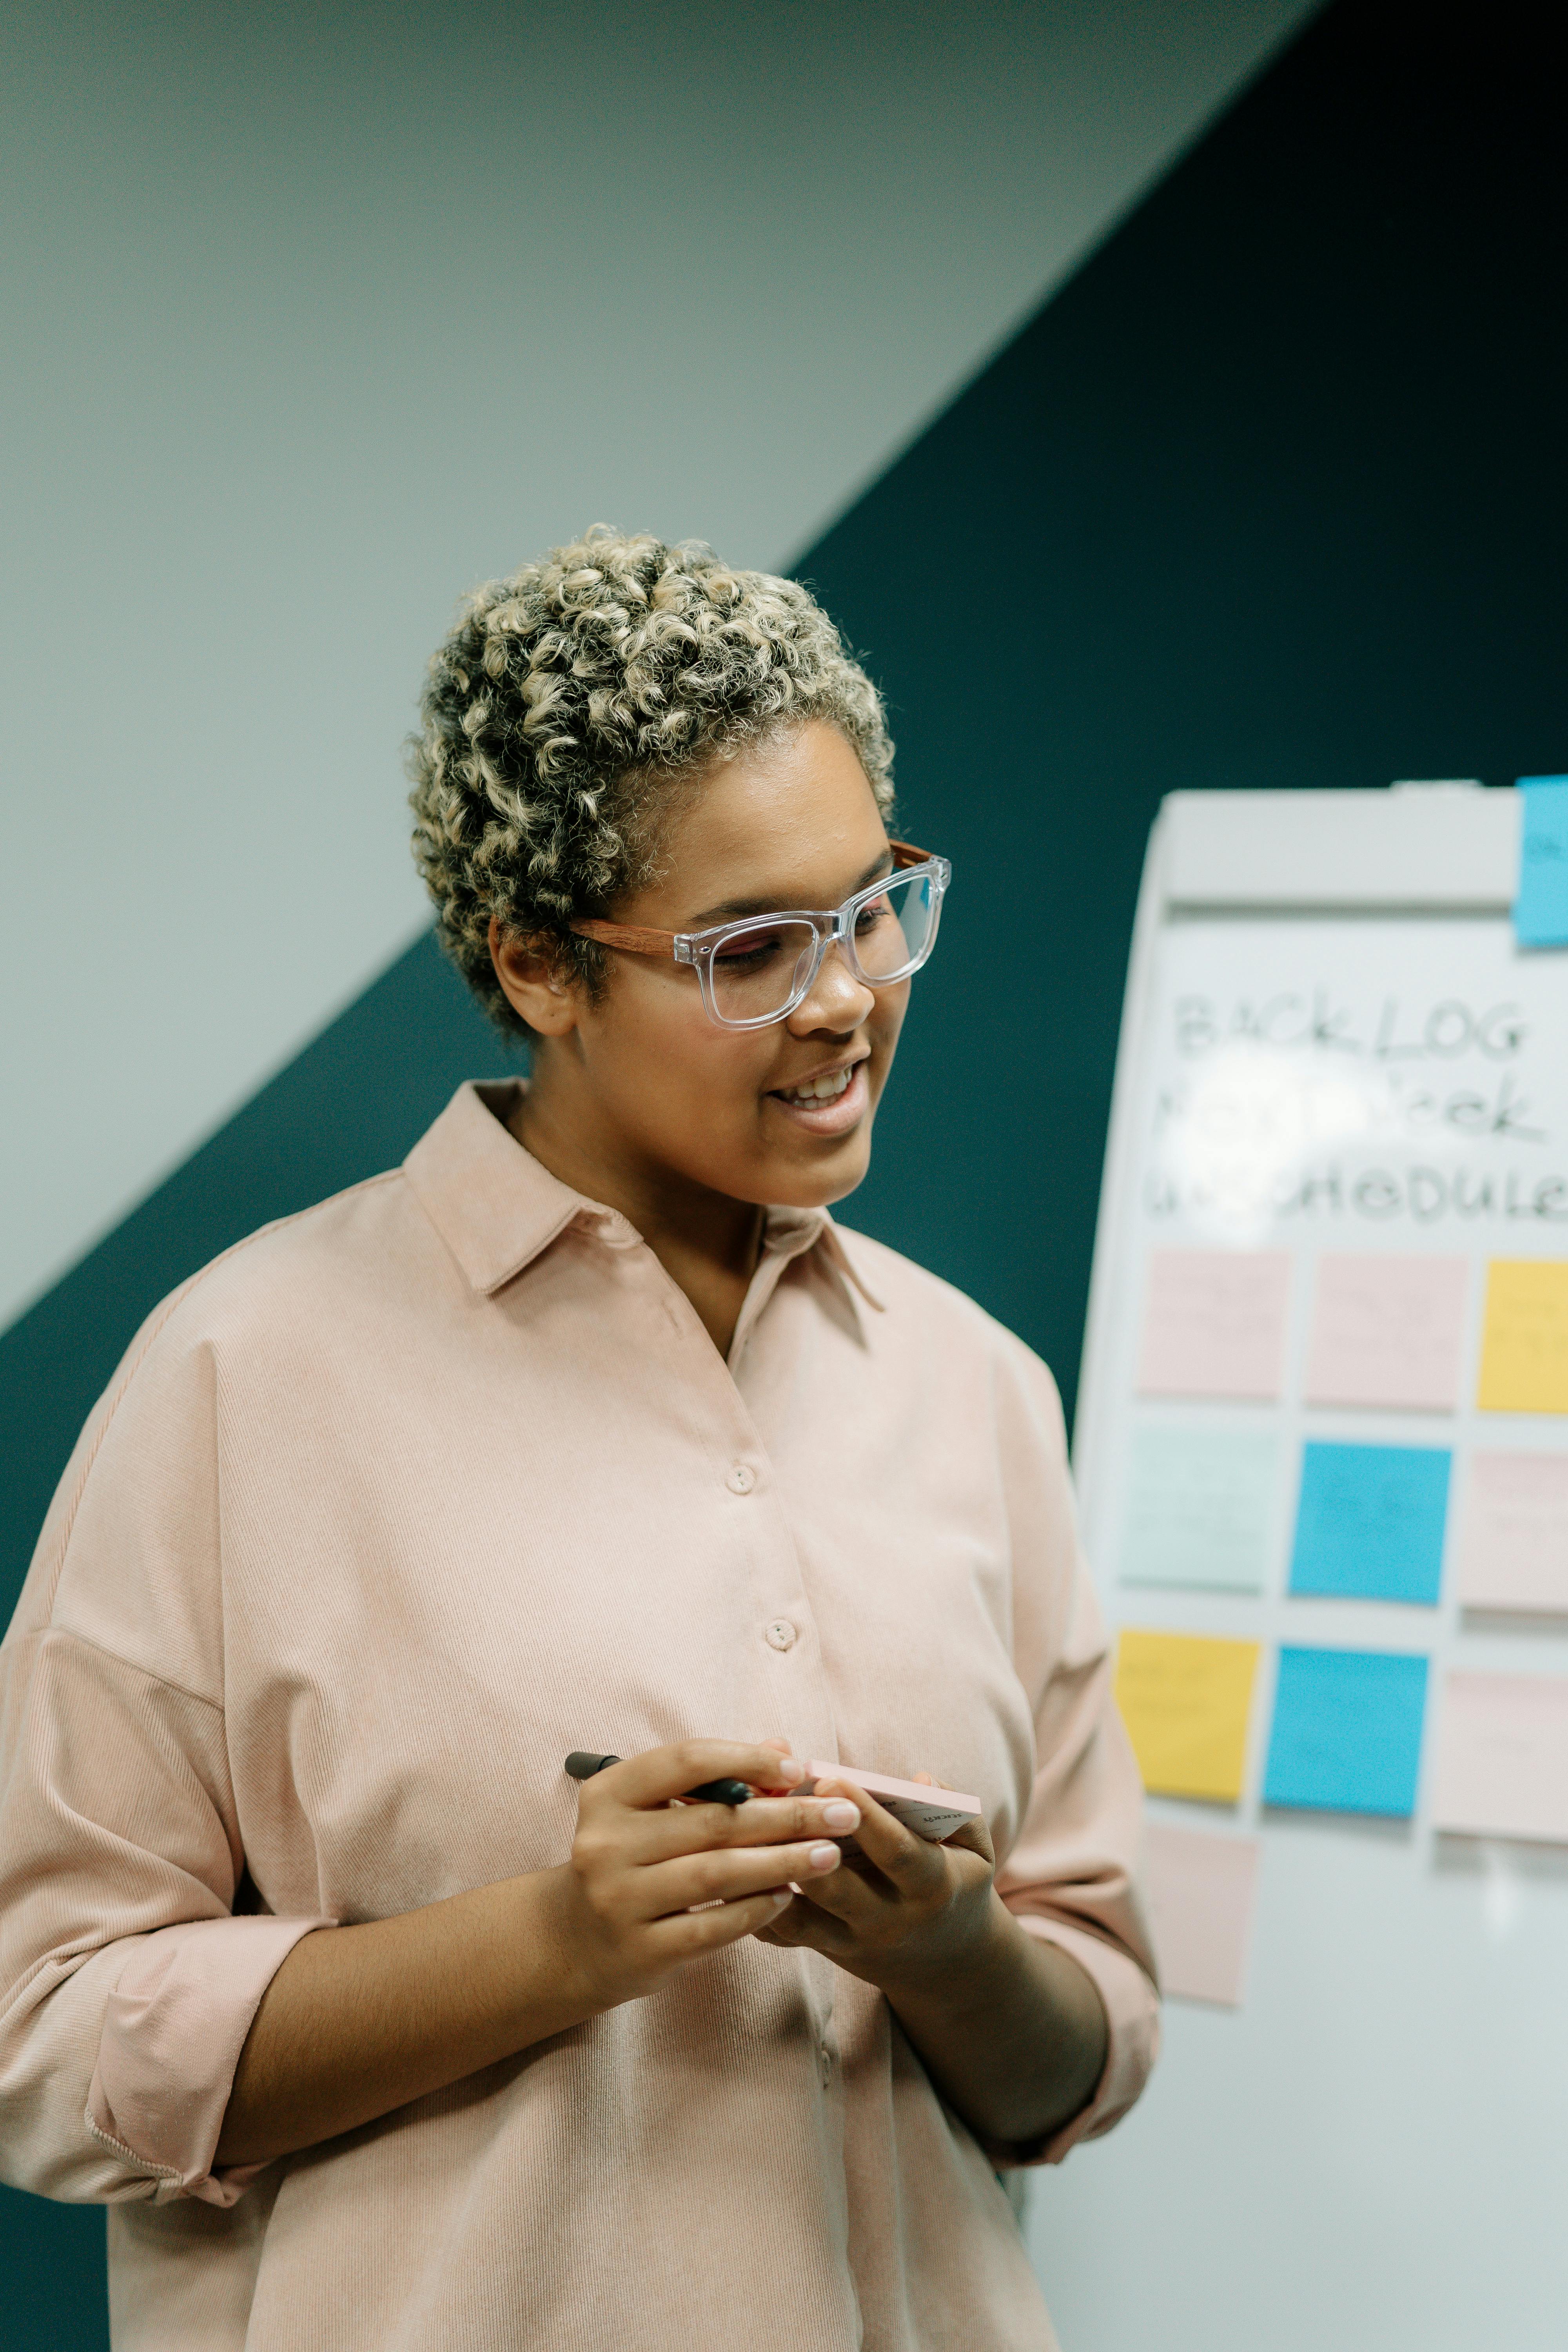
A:
[[[153,2201],[230,2206],[261,2164],[212,2169],[261,1994],[301,1936],[336,1919],[190,1919],[139,1936],[108,1994],[87,2129],[155,2173]]]

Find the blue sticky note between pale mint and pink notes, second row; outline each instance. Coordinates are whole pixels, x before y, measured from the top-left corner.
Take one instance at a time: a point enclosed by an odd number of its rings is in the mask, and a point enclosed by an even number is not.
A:
[[[1302,1449],[1291,1592],[1436,1606],[1448,1446]]]

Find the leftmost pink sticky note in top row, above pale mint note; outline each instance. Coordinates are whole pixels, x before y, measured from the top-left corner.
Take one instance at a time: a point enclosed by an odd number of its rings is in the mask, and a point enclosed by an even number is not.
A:
[[[1288,1249],[1157,1249],[1138,1395],[1276,1397],[1288,1305]]]

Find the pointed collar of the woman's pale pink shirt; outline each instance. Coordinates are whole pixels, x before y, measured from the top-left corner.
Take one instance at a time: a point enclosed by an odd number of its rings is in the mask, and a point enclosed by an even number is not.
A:
[[[574,1192],[524,1152],[505,1124],[522,1091],[520,1077],[458,1087],[402,1164],[425,1216],[484,1296],[512,1282],[576,1218],[597,1225],[611,1247],[639,1240],[618,1209]],[[816,1249],[867,1305],[882,1308],[825,1209],[769,1209],[762,1247],[780,1261]]]

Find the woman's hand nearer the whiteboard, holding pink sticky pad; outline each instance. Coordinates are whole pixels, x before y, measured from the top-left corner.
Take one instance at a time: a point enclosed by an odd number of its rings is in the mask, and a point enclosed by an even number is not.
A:
[[[914,1776],[931,1788],[931,1773]],[[997,1856],[985,1820],[933,1846],[905,1830],[877,1799],[849,1780],[823,1778],[818,1797],[849,1797],[860,1809],[856,1842],[832,1877],[802,1886],[762,1943],[811,1945],[884,1992],[950,1978],[994,1936]]]

